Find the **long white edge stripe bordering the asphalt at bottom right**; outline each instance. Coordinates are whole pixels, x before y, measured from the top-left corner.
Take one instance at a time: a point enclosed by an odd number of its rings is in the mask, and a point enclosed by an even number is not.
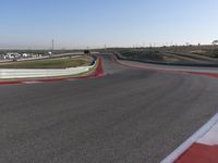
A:
[[[218,123],[218,113],[207,122],[199,130],[184,141],[179,148],[177,148],[170,155],[168,155],[161,163],[173,163],[177,159],[183,154],[194,142],[199,140],[205,134],[207,134]]]

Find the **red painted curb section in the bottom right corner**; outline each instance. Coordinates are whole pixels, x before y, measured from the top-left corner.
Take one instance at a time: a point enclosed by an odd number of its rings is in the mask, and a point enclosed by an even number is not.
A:
[[[218,163],[218,146],[194,143],[175,163]]]

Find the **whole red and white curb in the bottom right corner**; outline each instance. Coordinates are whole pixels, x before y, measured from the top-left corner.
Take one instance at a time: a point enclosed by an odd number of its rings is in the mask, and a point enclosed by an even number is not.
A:
[[[161,163],[218,163],[218,114]]]

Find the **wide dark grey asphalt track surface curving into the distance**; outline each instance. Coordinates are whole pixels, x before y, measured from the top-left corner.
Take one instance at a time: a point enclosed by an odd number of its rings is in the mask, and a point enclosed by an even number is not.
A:
[[[2,163],[156,163],[218,111],[218,79],[130,68],[0,86]]]

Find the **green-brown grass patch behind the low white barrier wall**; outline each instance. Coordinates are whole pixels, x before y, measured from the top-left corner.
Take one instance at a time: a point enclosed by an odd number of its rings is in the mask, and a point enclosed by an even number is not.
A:
[[[66,68],[89,65],[90,57],[58,58],[0,64],[0,68]]]

